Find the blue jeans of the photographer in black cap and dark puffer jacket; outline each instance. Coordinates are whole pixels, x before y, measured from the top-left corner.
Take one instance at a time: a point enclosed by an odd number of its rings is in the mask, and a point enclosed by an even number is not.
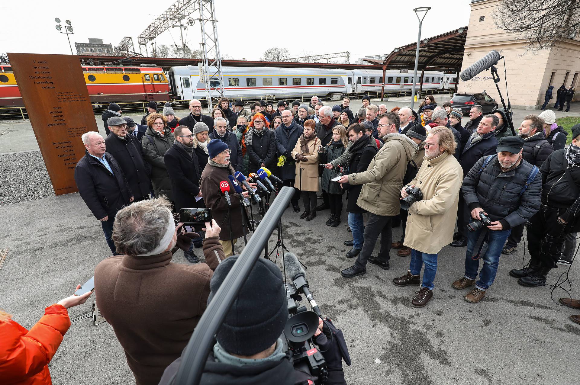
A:
[[[465,275],[467,279],[475,279],[477,271],[479,270],[479,259],[473,260],[472,255],[477,244],[477,239],[483,231],[483,228],[478,231],[467,231],[467,251],[465,253]],[[475,283],[476,288],[480,290],[487,290],[494,283],[495,274],[498,271],[499,256],[502,253],[503,245],[507,237],[512,232],[510,230],[488,230],[487,237],[487,252],[480,258],[483,259],[483,267],[479,273],[479,280]],[[476,250],[477,251],[477,250]]]

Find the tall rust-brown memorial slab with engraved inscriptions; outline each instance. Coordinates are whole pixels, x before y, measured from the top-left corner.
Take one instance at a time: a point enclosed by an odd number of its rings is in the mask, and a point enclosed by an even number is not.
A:
[[[78,191],[74,167],[85,155],[81,136],[98,132],[78,57],[9,53],[8,58],[55,194]]]

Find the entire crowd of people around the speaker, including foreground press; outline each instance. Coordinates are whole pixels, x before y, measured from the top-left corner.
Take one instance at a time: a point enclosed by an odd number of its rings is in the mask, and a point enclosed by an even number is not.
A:
[[[391,249],[410,256],[407,273],[392,282],[419,286],[409,296],[417,308],[433,296],[438,254],[447,245],[466,248],[464,274],[458,271],[461,277],[449,285],[469,289],[464,298],[470,303],[484,298],[500,256],[517,250],[524,227],[531,260],[509,272],[520,285],[544,286],[556,264],[572,263],[580,227],[580,125],[565,147],[568,133],[552,110],[525,116],[514,135],[503,110],[483,114],[473,106],[462,126],[462,112],[448,101],[438,106],[432,95],[417,111],[389,110],[368,96],[362,106],[353,112],[347,97],[328,106],[313,96],[308,105],[278,101],[276,108],[256,101],[248,112],[240,101],[232,105],[222,97],[211,116],[191,100],[190,114],[179,118],[171,103],[160,113],[150,102],[137,124],[111,103],[103,113],[107,136],[82,136],[86,153],[75,180],[113,254],[95,269],[96,302],[137,384],[172,382],[198,320],[237,258],[235,243],[250,228],[242,226],[249,223],[243,203],[258,188],[253,181],[236,186],[238,172],[245,179],[267,170],[278,187],[293,187],[290,206],[302,212],[300,219],[328,210],[325,224],[338,227],[346,211],[345,236],[352,237],[344,242],[351,247],[346,257],[356,260],[342,277],[365,274],[368,262],[389,270]],[[213,221],[186,231],[179,212],[187,208],[210,208]],[[403,236],[394,240],[397,226]],[[202,248],[205,263],[195,248]],[[172,262],[177,249],[191,264]],[[311,380],[282,350],[279,336],[288,318],[283,281],[276,264],[259,260],[216,336],[201,383]],[[267,299],[259,307],[256,292]],[[0,312],[0,332],[10,335],[0,344],[18,346],[0,374],[18,368],[15,378],[49,383],[46,364],[70,325],[63,321],[66,308],[88,295],[46,308],[30,332]],[[578,300],[560,303],[580,309]],[[580,315],[571,320],[580,324]],[[320,322],[315,342],[324,346],[329,330]],[[25,335],[34,343],[22,343]],[[342,356],[324,352],[329,383],[345,383]],[[39,357],[34,365],[28,354]]]

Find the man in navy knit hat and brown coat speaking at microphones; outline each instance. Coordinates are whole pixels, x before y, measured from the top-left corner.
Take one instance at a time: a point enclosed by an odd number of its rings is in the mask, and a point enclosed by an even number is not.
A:
[[[229,213],[231,217],[228,218],[228,202],[226,196],[222,193],[220,183],[224,180],[230,180],[230,175],[235,175],[235,170],[230,164],[231,151],[227,144],[221,140],[210,141],[207,148],[209,159],[208,164],[201,173],[201,194],[204,197],[205,205],[212,210],[213,219],[222,228],[219,234],[219,241],[222,244],[224,254],[229,257],[233,255],[232,243],[235,244],[238,238],[244,236],[245,228],[242,226],[242,220],[248,223],[247,213],[245,213],[245,210],[238,208],[240,199],[248,198],[248,191],[242,192],[243,197],[240,197],[240,194],[235,192],[230,183],[231,207]],[[243,219],[242,213],[246,216]],[[232,224],[231,227],[230,222]]]

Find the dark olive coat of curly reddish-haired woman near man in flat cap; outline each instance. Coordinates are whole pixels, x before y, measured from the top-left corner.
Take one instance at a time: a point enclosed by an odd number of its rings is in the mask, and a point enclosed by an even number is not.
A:
[[[155,197],[166,195],[169,202],[173,202],[173,194],[171,192],[169,173],[165,168],[164,155],[173,146],[174,140],[175,137],[173,137],[171,129],[168,127],[165,128],[165,135],[163,137],[148,127],[145,135],[141,139],[143,159],[151,165],[150,177]]]

